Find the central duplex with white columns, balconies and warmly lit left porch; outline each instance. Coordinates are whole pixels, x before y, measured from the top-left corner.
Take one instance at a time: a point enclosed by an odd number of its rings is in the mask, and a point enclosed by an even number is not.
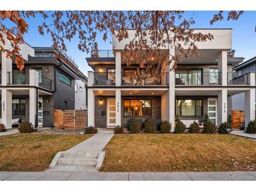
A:
[[[123,41],[113,37],[113,50],[99,50],[97,58],[87,58],[93,68],[88,72],[88,125],[126,127],[130,118],[152,118],[169,121],[173,132],[175,116],[183,121],[203,121],[205,114],[220,125],[227,121],[231,95],[240,92],[245,92],[247,102],[246,123],[255,119],[255,74],[234,79],[232,65],[243,58],[228,54],[232,48],[232,29],[194,30],[213,34],[214,39],[196,43],[200,56],[182,58],[175,71],[162,67],[155,73],[156,63],[163,60],[152,57],[148,61],[151,69],[138,78],[137,64],[127,66],[122,60],[126,43],[135,38],[134,30]],[[168,46],[161,50],[162,55],[168,53],[174,55],[177,50]]]

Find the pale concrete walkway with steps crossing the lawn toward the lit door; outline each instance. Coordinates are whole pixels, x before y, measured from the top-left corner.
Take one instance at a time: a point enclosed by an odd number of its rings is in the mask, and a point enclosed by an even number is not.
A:
[[[99,131],[71,149],[58,152],[45,172],[98,172],[105,158],[103,149],[113,136],[113,131]]]

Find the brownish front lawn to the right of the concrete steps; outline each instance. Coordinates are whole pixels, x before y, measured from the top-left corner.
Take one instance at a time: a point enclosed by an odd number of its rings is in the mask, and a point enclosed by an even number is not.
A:
[[[103,172],[256,170],[256,142],[234,135],[114,135]]]

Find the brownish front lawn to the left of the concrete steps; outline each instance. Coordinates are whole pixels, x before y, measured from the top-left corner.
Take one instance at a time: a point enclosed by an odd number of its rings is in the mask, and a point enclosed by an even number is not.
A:
[[[58,151],[91,135],[15,134],[0,137],[0,171],[43,171]]]

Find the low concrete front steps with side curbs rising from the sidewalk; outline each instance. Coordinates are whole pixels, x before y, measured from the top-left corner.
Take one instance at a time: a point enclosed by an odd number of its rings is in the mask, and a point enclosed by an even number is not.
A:
[[[105,152],[61,151],[46,172],[98,172]]]

